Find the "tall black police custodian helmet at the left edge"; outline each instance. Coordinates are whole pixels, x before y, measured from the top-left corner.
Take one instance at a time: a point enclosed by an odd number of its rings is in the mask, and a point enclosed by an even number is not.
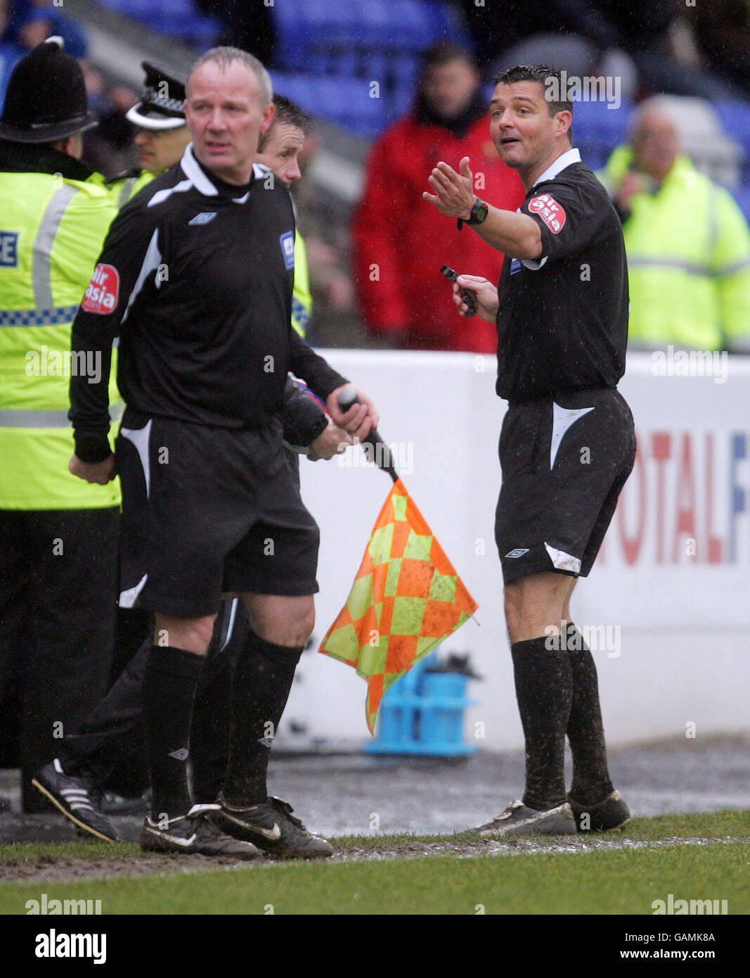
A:
[[[50,37],[13,69],[0,116],[0,139],[55,143],[97,125],[89,111],[83,71]]]

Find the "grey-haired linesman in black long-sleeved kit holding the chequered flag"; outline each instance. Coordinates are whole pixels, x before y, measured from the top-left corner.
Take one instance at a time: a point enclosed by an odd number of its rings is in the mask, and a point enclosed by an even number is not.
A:
[[[364,437],[369,399],[338,407],[345,378],[291,329],[294,214],[254,164],[271,126],[271,79],[252,55],[212,49],[187,79],[192,143],[115,219],[73,324],[74,350],[102,358],[101,383],[73,378],[70,468],[122,479],[120,596],[155,614],[144,678],[151,814],[142,847],[252,859],[330,856],[291,809],[266,797],[268,741],[312,631],[318,530],[287,464],[278,418],[287,373]],[[120,335],[127,409],[109,451],[109,349]],[[222,594],[240,595],[252,635],[232,682],[229,764],[215,805],[187,777],[195,689]]]

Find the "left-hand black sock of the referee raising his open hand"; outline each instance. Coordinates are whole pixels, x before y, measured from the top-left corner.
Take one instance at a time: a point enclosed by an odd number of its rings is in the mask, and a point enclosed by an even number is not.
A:
[[[526,742],[523,804],[546,811],[565,801],[565,728],[572,699],[567,652],[550,639],[511,645],[516,696]]]

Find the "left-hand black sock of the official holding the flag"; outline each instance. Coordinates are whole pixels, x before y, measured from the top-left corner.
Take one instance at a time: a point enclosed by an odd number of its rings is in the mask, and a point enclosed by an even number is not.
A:
[[[151,816],[174,819],[192,806],[187,762],[195,689],[204,656],[152,645],[144,676],[144,727]]]

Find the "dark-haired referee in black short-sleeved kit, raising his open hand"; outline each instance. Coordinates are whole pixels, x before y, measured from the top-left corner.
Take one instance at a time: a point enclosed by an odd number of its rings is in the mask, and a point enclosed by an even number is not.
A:
[[[424,195],[506,253],[498,289],[472,275],[454,285],[463,314],[460,289],[469,289],[479,315],[497,322],[496,389],[509,402],[495,539],[526,778],[523,800],[479,827],[486,835],[616,828],[630,816],[609,779],[594,659],[569,610],[635,461],[633,417],[617,391],[628,273],[617,215],[571,149],[573,107],[565,99],[560,73],[544,65],[496,78],[490,135],[521,175],[526,199],[518,212],[476,197],[468,157],[459,173],[439,162],[429,178],[434,194]],[[573,756],[568,794],[565,734]]]

